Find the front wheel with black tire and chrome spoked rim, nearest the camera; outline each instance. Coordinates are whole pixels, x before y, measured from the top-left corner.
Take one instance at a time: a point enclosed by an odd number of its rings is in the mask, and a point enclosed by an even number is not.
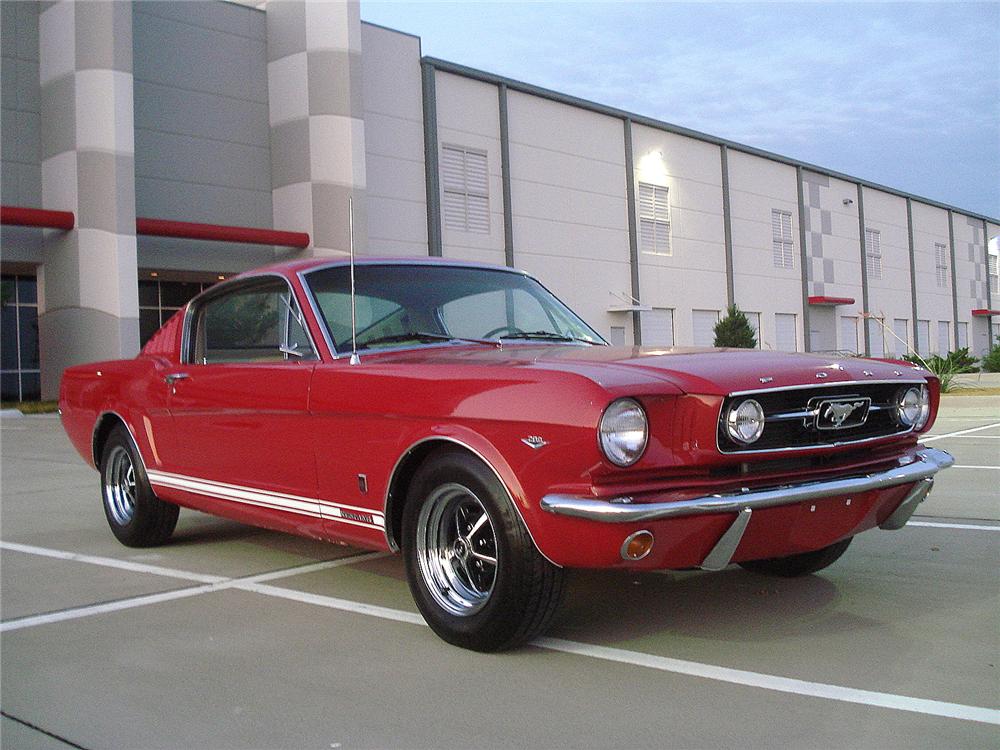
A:
[[[418,469],[402,541],[414,601],[448,643],[514,648],[559,605],[562,569],[542,557],[499,480],[467,453],[441,452]]]

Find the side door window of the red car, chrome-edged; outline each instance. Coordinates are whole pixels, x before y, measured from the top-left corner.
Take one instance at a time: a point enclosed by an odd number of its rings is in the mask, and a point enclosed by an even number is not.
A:
[[[315,357],[302,313],[283,282],[235,289],[208,300],[196,314],[199,364]]]

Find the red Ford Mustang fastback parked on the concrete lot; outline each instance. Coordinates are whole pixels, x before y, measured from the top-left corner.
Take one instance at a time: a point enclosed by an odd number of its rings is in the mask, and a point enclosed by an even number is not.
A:
[[[135,359],[66,371],[121,542],[166,542],[185,506],[401,551],[435,632],[494,651],[548,624],[564,568],[812,573],[952,463],[917,443],[939,387],[911,365],[610,347],[507,268],[355,277],[246,273]]]

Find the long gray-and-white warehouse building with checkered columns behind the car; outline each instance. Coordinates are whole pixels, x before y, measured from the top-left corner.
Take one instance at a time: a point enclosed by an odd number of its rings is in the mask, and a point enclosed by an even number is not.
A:
[[[3,398],[207,285],[349,248],[514,265],[613,343],[1000,336],[1000,220],[423,57],[356,2],[3,2]]]

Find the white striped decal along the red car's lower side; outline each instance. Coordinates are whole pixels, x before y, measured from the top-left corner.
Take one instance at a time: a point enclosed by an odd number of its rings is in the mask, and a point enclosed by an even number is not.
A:
[[[150,484],[158,487],[184,490],[219,500],[246,503],[247,505],[297,513],[312,518],[324,518],[362,528],[379,530],[385,528],[385,517],[382,512],[371,508],[334,503],[320,498],[289,495],[284,492],[274,492],[256,487],[243,487],[212,479],[200,479],[152,469],[147,470],[146,474],[149,476]],[[371,518],[371,522],[366,521],[366,518]]]

